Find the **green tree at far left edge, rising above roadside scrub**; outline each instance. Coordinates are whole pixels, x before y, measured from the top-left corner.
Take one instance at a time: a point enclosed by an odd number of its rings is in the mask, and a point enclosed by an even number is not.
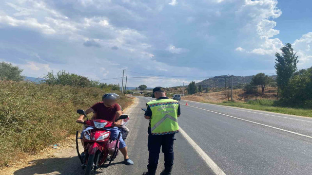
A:
[[[3,61],[0,63],[0,80],[22,81],[25,78],[21,75],[22,71],[19,67]]]

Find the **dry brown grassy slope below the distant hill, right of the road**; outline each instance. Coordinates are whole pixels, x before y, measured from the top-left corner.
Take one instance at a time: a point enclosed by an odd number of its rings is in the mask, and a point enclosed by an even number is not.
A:
[[[183,100],[191,100],[196,102],[211,102],[211,103],[222,103],[228,101],[229,91],[209,92],[209,93],[196,93],[193,95],[186,95],[182,97]],[[245,99],[270,99],[276,98],[276,88],[266,88],[264,93],[245,94],[242,89],[233,90],[233,99],[236,102],[243,102]],[[231,99],[231,89],[230,89]]]

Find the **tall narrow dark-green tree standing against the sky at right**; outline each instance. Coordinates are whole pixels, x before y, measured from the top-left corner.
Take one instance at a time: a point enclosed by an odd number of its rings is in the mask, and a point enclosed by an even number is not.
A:
[[[296,56],[296,53],[293,53],[292,45],[289,43],[280,50],[282,54],[275,53],[276,62],[274,68],[276,69],[278,88],[281,89],[282,97],[285,97],[289,80],[297,70],[298,56]]]

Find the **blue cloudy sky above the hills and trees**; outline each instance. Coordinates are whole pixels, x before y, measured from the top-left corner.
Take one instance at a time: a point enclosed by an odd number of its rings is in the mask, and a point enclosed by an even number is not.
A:
[[[100,80],[121,77],[123,69],[253,75],[275,72],[274,53],[291,43],[303,69],[312,66],[311,6],[310,0],[2,0],[0,61],[33,77],[67,70]],[[202,78],[129,78],[128,86],[192,80]]]

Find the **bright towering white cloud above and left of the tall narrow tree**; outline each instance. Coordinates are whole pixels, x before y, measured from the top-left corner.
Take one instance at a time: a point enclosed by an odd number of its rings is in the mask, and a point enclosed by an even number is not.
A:
[[[279,38],[272,38],[279,34],[279,30],[273,29],[276,22],[269,19],[278,18],[282,14],[276,5],[277,0],[245,0],[245,5],[236,12],[236,16],[239,18],[242,18],[243,15],[250,18],[242,30],[246,39],[250,39],[243,45],[244,48],[250,48],[246,53],[272,55],[283,47]],[[255,33],[258,39],[254,38]]]

